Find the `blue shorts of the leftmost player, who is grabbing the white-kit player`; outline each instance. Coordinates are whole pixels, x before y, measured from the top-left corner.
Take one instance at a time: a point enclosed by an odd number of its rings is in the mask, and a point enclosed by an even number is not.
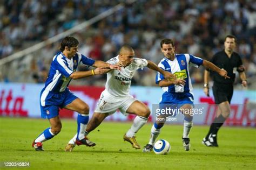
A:
[[[74,101],[77,96],[73,95],[66,89],[62,93],[52,93],[49,92],[48,95],[42,96],[44,89],[40,94],[40,108],[41,108],[41,117],[42,118],[53,118],[59,115],[59,108],[64,108],[66,105]],[[45,98],[45,106],[42,106],[41,100]]]

